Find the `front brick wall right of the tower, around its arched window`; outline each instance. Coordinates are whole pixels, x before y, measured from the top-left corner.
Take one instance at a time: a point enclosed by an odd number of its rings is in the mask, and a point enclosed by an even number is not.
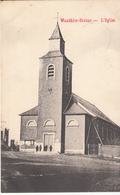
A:
[[[67,126],[74,119],[78,126]],[[66,115],[65,117],[65,153],[85,153],[85,115]]]

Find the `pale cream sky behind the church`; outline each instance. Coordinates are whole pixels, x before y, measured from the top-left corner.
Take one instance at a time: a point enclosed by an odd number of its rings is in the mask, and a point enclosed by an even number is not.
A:
[[[56,16],[65,55],[73,62],[72,91],[120,126],[120,1],[3,1],[1,25],[2,128],[20,139],[20,116],[38,104],[39,57],[49,51]],[[101,22],[112,18],[115,22]],[[98,20],[93,22],[93,20]]]

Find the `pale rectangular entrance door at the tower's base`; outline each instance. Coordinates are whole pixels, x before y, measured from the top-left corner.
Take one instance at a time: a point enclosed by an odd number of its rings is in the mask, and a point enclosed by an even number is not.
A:
[[[44,151],[53,151],[53,134],[44,134]]]

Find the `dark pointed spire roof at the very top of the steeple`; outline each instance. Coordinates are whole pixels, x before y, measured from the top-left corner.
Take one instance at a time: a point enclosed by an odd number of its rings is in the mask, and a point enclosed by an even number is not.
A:
[[[49,40],[53,40],[53,39],[62,39],[64,41],[58,22],[57,22],[57,25],[56,25],[51,37],[49,38]]]

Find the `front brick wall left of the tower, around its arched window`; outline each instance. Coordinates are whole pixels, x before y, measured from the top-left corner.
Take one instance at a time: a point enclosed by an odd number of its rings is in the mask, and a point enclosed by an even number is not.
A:
[[[20,141],[37,138],[37,127],[27,126],[29,120],[35,120],[37,123],[38,116],[21,116],[21,131],[20,131]]]

